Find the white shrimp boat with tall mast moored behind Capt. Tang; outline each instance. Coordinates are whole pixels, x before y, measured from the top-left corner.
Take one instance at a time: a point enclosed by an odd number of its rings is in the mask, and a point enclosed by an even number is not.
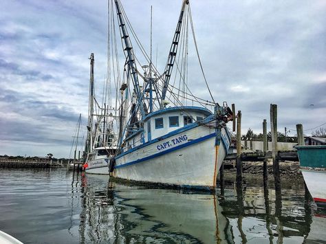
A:
[[[109,175],[109,160],[116,153],[117,139],[113,133],[113,114],[104,103],[100,107],[94,95],[94,54],[91,60],[89,81],[89,120],[87,125],[87,140],[85,143],[85,173]],[[96,120],[96,121],[94,121]]]

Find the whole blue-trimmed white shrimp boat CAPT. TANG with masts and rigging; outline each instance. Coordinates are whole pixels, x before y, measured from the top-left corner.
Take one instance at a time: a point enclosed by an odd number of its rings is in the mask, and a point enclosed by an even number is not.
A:
[[[128,32],[131,23],[120,1],[111,3],[111,10],[115,9],[118,16],[122,49],[126,57],[125,79],[120,89],[122,102],[118,150],[110,162],[111,176],[144,184],[215,188],[217,173],[230,147],[231,137],[226,124],[235,120],[235,113],[226,102],[220,106],[214,101],[200,59],[203,80],[213,102],[194,96],[188,88],[188,47],[185,47],[188,43],[184,38],[190,24],[183,23],[191,19],[189,1],[182,2],[164,72],[159,74],[150,54],[150,57],[146,55],[149,65],[141,67],[143,75],[136,66],[139,59],[135,58]],[[134,36],[133,29],[129,30]],[[187,52],[178,53],[178,47]],[[184,55],[181,58],[180,53]],[[175,66],[175,73],[180,74],[179,89],[174,85],[175,80],[173,85],[170,82],[176,76],[173,74]],[[196,106],[189,106],[189,100]]]

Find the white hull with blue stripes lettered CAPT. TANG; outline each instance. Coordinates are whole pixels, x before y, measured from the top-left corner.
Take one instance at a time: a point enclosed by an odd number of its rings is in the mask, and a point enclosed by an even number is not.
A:
[[[214,188],[217,172],[230,145],[225,129],[221,130],[221,137],[221,144],[215,146],[215,129],[197,126],[144,144],[116,157],[113,177],[191,188]],[[177,142],[177,138],[181,140]]]

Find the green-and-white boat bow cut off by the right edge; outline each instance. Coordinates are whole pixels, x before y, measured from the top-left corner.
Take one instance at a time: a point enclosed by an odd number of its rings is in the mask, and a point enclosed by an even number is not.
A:
[[[326,207],[326,145],[296,146],[305,184],[317,206]]]

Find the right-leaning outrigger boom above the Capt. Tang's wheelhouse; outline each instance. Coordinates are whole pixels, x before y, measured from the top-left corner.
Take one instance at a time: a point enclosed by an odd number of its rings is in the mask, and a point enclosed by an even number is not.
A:
[[[170,52],[169,52],[168,63],[166,64],[166,67],[165,67],[164,85],[163,85],[163,89],[162,89],[162,97],[161,97],[161,102],[160,102],[161,109],[164,108],[164,99],[166,96],[166,91],[168,90],[169,81],[170,81],[171,73],[173,70],[173,65],[175,63],[175,57],[177,56],[177,46],[179,44],[179,39],[180,39],[180,32],[181,32],[181,27],[182,27],[182,19],[184,16],[184,9],[186,8],[186,5],[188,5],[188,4],[189,4],[189,0],[184,0],[182,3],[179,21],[177,22],[177,28],[175,30],[175,34],[174,34],[172,45],[171,45]]]

